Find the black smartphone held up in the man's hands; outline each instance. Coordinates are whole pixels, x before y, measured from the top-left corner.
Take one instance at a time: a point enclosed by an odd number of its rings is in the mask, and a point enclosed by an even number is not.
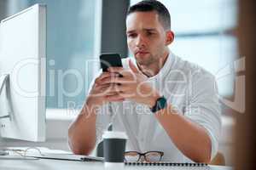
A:
[[[100,61],[102,71],[108,71],[108,67],[123,67],[119,54],[101,54]]]

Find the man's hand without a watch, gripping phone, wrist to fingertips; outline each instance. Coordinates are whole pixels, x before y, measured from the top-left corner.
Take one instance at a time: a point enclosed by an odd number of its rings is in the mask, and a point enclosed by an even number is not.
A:
[[[108,97],[121,93],[119,91],[119,85],[116,83],[108,83],[102,85],[102,82],[106,78],[119,77],[118,73],[102,72],[102,74],[96,78],[93,87],[90,90],[90,94],[86,100],[87,106],[101,106],[111,101],[123,101],[124,98],[119,95],[119,98],[109,100]]]

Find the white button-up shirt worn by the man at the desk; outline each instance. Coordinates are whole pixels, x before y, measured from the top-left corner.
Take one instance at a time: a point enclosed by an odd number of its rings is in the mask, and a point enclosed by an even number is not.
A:
[[[129,68],[128,59],[122,59],[122,62],[124,68]],[[221,128],[218,90],[214,77],[198,65],[170,53],[160,72],[150,77],[148,82],[166,97],[168,104],[177,108],[179,114],[206,128],[212,141],[213,158],[218,151]],[[114,131],[127,133],[129,139],[126,151],[158,150],[164,152],[162,161],[191,162],[177,149],[172,138],[146,105],[130,100],[103,105],[96,116],[97,142],[110,123]]]

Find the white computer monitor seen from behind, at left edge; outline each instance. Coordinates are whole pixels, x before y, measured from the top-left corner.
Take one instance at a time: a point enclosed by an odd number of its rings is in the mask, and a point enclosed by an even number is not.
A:
[[[45,140],[46,6],[0,24],[0,136]]]

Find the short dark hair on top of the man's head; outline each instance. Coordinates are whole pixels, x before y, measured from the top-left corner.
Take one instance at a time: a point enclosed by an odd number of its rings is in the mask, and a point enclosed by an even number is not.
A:
[[[163,3],[156,0],[143,0],[139,3],[132,5],[126,14],[126,17],[135,12],[150,12],[155,11],[159,15],[160,23],[162,26],[170,30],[171,29],[171,15]]]

